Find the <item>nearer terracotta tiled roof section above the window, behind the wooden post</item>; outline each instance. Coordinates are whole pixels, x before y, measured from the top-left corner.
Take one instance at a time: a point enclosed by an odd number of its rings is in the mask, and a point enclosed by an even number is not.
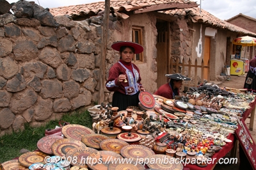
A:
[[[176,8],[191,8],[198,6],[194,1],[189,0],[115,0],[110,1],[110,8],[112,11],[118,13],[125,12],[145,12],[148,11],[158,11],[158,10],[168,10]],[[97,15],[100,11],[105,8],[105,2],[90,3],[90,4],[79,4],[73,6],[63,6],[58,8],[51,8],[50,12],[54,16],[58,15],[70,15],[72,18],[84,17],[88,18],[92,15]],[[125,15],[120,15],[119,17],[124,18]],[[126,17],[126,16],[125,16]],[[129,16],[128,16],[129,17]]]

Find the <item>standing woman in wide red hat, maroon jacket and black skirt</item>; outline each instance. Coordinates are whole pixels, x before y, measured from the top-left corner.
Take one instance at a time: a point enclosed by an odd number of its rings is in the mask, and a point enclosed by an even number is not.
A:
[[[120,59],[109,70],[106,88],[115,91],[112,105],[119,111],[128,106],[138,106],[140,91],[145,91],[141,84],[140,70],[132,63],[134,54],[143,52],[143,47],[134,42],[115,42],[111,46],[120,52]]]

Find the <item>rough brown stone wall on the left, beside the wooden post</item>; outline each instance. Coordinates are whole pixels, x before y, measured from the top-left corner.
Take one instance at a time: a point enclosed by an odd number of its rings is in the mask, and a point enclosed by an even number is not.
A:
[[[0,15],[0,136],[24,129],[26,122],[60,119],[99,96],[102,17],[74,21],[53,18],[36,4],[29,9],[34,15]],[[111,35],[118,21],[110,19],[106,62],[116,58]],[[106,102],[109,95],[106,90]]]

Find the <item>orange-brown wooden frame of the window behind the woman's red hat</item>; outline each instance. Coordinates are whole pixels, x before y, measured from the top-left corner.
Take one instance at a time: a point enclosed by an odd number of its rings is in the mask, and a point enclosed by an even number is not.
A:
[[[136,34],[136,31],[138,31],[138,34]],[[136,35],[138,35],[138,37],[136,37]],[[132,26],[132,42],[143,45],[143,27]],[[136,59],[137,57],[140,59]],[[132,61],[137,64],[143,63],[143,52],[135,54]]]

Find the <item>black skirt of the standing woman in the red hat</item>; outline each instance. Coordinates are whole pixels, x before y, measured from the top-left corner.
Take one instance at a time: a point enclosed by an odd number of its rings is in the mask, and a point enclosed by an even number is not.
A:
[[[113,94],[112,106],[118,107],[118,111],[125,111],[128,106],[138,107],[138,103],[140,102],[139,93],[136,93],[135,95],[125,95],[123,93],[115,92]]]

